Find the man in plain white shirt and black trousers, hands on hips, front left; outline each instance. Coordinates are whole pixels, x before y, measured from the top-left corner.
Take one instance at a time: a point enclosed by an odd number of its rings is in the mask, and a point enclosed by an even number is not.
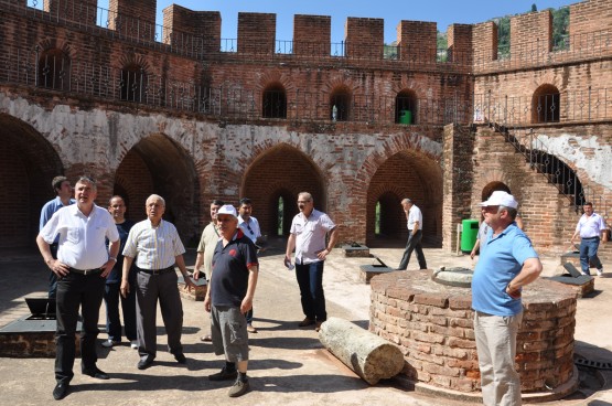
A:
[[[56,400],[68,394],[74,376],[75,333],[78,308],[83,317],[80,331],[80,368],[83,374],[98,380],[108,375],[98,370],[96,338],[106,277],[117,263],[119,233],[108,211],[94,204],[96,183],[82,177],[75,185],[76,204],[58,210],[36,237],[45,264],[57,275],[57,329],[55,343]],[[50,245],[60,234],[57,259]],[[108,252],[106,238],[110,242]]]

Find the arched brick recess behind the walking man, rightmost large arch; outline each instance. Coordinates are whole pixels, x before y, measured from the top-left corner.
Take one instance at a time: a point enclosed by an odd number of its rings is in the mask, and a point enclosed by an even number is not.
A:
[[[397,200],[395,205],[393,196]],[[401,150],[385,160],[369,180],[366,202],[366,244],[401,246],[408,238],[406,216],[400,207],[401,199],[409,197],[423,215],[423,242],[439,246],[442,235],[442,171],[440,165],[419,151]],[[382,201],[380,216],[385,217],[387,232],[376,235],[376,203]],[[399,226],[388,226],[396,223]]]

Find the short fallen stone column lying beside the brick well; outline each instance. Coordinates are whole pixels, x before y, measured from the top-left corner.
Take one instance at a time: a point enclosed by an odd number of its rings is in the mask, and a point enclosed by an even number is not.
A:
[[[321,325],[319,340],[371,385],[390,378],[404,368],[399,348],[350,321],[329,318]]]

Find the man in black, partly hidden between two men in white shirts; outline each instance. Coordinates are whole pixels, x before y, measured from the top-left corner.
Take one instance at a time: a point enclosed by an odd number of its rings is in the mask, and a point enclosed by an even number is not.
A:
[[[110,197],[108,202],[108,212],[112,215],[117,229],[119,231],[119,238],[121,246],[117,263],[112,270],[106,278],[106,290],[104,293],[104,301],[106,302],[106,332],[108,340],[103,342],[103,346],[110,348],[121,342],[121,319],[119,318],[119,297],[121,298],[121,311],[124,313],[124,328],[126,330],[126,338],[130,342],[132,349],[138,349],[137,333],[136,333],[136,290],[131,290],[126,298],[119,295],[119,286],[121,285],[121,275],[124,266],[124,248],[126,241],[130,233],[133,222],[126,218],[126,202],[124,197],[116,195]],[[130,269],[131,286],[136,285],[136,271]]]

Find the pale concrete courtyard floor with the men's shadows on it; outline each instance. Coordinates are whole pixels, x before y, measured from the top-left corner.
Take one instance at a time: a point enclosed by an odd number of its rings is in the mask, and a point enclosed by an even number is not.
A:
[[[399,248],[372,249],[389,266],[399,263]],[[195,253],[186,254],[193,265]],[[439,266],[471,267],[469,256],[455,256],[441,249],[425,250],[430,268]],[[46,267],[36,253],[3,253],[0,259],[0,325],[26,312],[25,296],[44,296]],[[545,274],[556,271],[558,258],[544,258]],[[328,311],[367,328],[369,286],[359,280],[359,265],[372,264],[371,258],[344,258],[335,249],[324,275]],[[608,265],[608,264],[604,264]],[[418,265],[412,258],[409,270]],[[608,266],[610,269],[610,266]],[[612,270],[612,269],[611,269]],[[578,301],[576,351],[593,361],[612,362],[612,323],[605,316],[612,304],[612,277],[598,278],[597,292]],[[313,329],[299,329],[303,314],[299,290],[292,271],[282,266],[280,249],[270,249],[261,258],[261,274],[255,299],[255,325],[251,334],[249,376],[253,391],[237,399],[227,397],[229,382],[212,383],[207,375],[217,372],[223,360],[212,353],[210,343],[200,341],[208,329],[208,316],[203,303],[183,300],[183,345],[187,364],[178,364],[167,352],[161,317],[158,318],[158,357],[147,371],[136,368],[138,355],[127,343],[111,350],[99,346],[98,366],[111,375],[109,381],[96,381],[79,374],[75,362],[75,377],[65,405],[462,405],[449,399],[428,397],[391,380],[369,387],[352,371],[329,354]],[[105,309],[100,309],[100,330],[104,330]],[[100,342],[106,333],[100,333]],[[581,389],[572,399],[559,405],[612,405],[609,384],[595,391],[598,377],[608,378],[610,372],[581,374]],[[0,359],[0,399],[3,405],[42,405],[53,403],[54,386],[52,359]]]

